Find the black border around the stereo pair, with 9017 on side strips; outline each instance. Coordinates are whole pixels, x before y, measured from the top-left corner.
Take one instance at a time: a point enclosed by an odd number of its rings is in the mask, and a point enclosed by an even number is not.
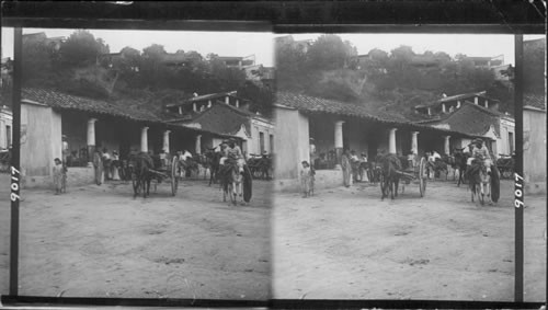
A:
[[[546,33],[546,8],[533,1],[189,1],[138,2],[2,2],[2,26],[52,28],[139,28],[183,31],[246,31],[275,33],[489,33],[514,34],[516,43],[515,128],[516,150],[523,147],[523,88],[521,60],[523,34]],[[266,21],[266,22],[265,22]],[[272,23],[272,24],[271,24]],[[14,48],[18,48],[15,35]],[[20,44],[21,42],[19,42]],[[16,55],[16,53],[14,53]],[[14,59],[14,71],[21,62]],[[19,59],[20,60],[20,59]],[[15,73],[18,74],[18,73]],[[20,140],[20,90],[14,76],[13,145]],[[19,170],[19,148],[13,168]],[[516,152],[516,174],[523,175],[522,152]],[[13,176],[16,179],[14,180]],[[13,190],[16,184],[16,190]],[[12,173],[12,194],[19,195],[19,175]],[[517,190],[517,183],[516,183]],[[521,195],[516,200],[523,202]],[[11,257],[19,255],[19,199],[11,205]],[[466,300],[189,300],[107,299],[18,296],[16,277],[10,278],[9,305],[95,305],[178,307],[272,307],[272,308],[539,308],[541,302],[523,301],[523,208],[515,209],[515,302]],[[10,260],[10,275],[18,269]]]

